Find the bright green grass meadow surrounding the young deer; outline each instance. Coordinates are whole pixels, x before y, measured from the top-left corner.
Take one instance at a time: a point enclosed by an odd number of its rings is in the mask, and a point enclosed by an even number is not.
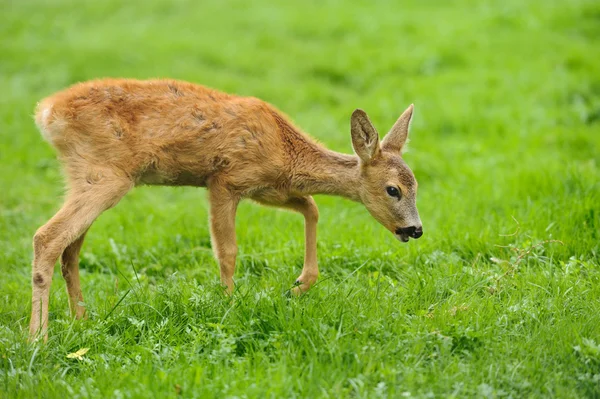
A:
[[[3,2],[0,397],[599,397],[599,3],[224,3]],[[318,197],[320,283],[288,299],[302,218],[243,203],[229,300],[205,190],[139,188],[86,239],[89,320],[57,271],[29,345],[31,237],[63,186],[31,115],[103,76],[258,96],[344,152],[354,108],[383,133],[414,102],[425,235]]]

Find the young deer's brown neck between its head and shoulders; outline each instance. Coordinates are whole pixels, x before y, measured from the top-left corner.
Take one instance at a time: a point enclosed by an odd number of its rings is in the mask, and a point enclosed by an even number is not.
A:
[[[331,151],[309,141],[294,144],[293,191],[301,195],[331,194],[360,201],[357,156]]]

